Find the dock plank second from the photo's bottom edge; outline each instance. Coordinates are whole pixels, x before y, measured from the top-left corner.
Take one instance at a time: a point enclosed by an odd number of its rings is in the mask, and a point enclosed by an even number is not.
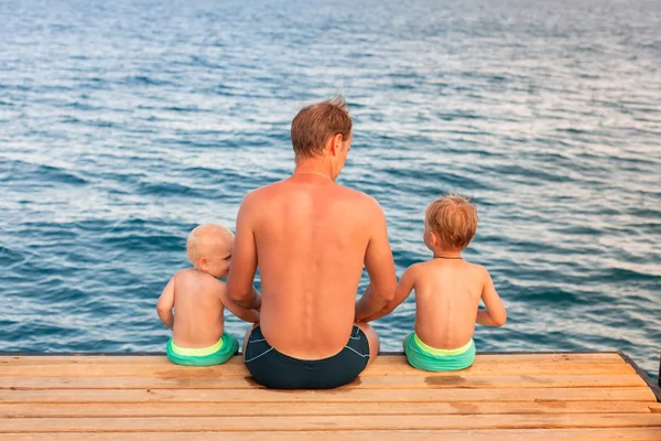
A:
[[[391,416],[305,417],[187,417],[187,418],[9,418],[7,432],[186,432],[186,431],[300,431],[300,430],[452,430],[538,428],[639,428],[655,427],[661,415],[443,415],[392,418]]]

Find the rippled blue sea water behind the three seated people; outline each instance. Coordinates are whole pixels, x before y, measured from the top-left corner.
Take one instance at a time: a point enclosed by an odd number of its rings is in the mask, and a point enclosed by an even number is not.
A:
[[[291,172],[297,109],[343,93],[340,182],[382,204],[398,273],[429,258],[425,205],[474,197],[465,255],[509,311],[478,349],[655,375],[660,2],[0,0],[0,351],[163,351],[187,233],[231,227]]]

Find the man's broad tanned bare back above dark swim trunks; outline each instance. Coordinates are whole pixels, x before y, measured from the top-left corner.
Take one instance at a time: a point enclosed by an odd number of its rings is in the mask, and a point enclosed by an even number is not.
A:
[[[375,230],[384,233],[377,202],[326,176],[295,173],[251,193],[241,209],[256,232],[267,340],[296,358],[339,352],[368,244]]]

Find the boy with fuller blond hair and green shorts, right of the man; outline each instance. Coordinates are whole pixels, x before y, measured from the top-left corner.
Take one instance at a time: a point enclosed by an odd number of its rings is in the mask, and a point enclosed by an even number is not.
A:
[[[394,310],[415,290],[415,332],[404,338],[409,363],[423,370],[458,370],[475,359],[475,323],[502,326],[507,313],[489,272],[462,257],[477,229],[477,209],[463,196],[432,202],[424,244],[433,258],[404,271],[394,299],[376,316]],[[486,309],[479,309],[480,300]]]

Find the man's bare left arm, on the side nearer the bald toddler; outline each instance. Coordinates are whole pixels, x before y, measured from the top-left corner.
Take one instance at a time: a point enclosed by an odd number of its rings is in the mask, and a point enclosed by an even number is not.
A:
[[[239,306],[259,310],[261,306],[260,295],[252,286],[257,271],[257,246],[251,224],[252,205],[250,194],[248,194],[243,198],[237,216],[237,234],[227,277],[227,297],[230,302]]]

